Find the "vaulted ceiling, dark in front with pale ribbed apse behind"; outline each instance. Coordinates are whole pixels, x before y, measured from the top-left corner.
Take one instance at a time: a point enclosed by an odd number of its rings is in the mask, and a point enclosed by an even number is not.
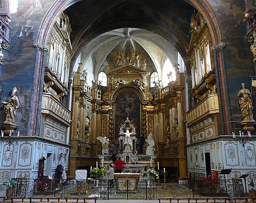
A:
[[[124,45],[133,45],[147,57],[147,70],[160,74],[166,58],[172,64],[177,52],[185,58],[194,9],[184,1],[83,0],[66,12],[74,59],[81,54],[84,64],[92,60],[94,75],[107,71],[110,52],[121,51]]]

